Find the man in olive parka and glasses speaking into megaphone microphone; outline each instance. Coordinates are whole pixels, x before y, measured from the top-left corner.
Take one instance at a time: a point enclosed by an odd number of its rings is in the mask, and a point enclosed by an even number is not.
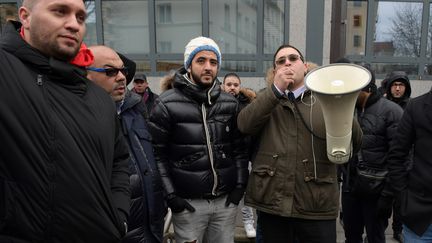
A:
[[[269,87],[238,116],[240,131],[260,138],[245,203],[259,212],[264,242],[334,243],[339,188],[321,105],[304,85],[307,65],[297,48],[280,46],[273,61]],[[352,138],[356,151],[356,121]]]

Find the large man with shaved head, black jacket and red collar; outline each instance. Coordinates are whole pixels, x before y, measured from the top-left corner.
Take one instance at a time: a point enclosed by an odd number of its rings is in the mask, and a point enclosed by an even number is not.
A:
[[[129,153],[86,78],[82,0],[25,0],[0,38],[0,242],[119,242]],[[117,67],[117,66],[116,66]]]

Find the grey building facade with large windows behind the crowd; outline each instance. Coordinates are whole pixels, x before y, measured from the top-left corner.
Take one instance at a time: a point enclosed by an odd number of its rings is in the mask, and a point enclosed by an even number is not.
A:
[[[0,28],[17,19],[21,0],[0,0]],[[138,72],[158,80],[183,63],[186,43],[209,36],[223,56],[220,75],[237,72],[256,90],[278,46],[298,47],[324,65],[340,57],[369,63],[382,79],[404,70],[413,94],[430,90],[432,0],[93,0],[88,45],[104,44],[137,62]]]

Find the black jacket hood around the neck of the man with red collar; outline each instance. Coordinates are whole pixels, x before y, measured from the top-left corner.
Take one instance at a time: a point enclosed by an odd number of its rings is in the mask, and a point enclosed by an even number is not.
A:
[[[68,62],[47,57],[30,46],[19,34],[21,23],[9,21],[0,39],[0,48],[13,54],[39,74],[47,75],[50,80],[64,86],[78,95],[87,90],[86,70]]]

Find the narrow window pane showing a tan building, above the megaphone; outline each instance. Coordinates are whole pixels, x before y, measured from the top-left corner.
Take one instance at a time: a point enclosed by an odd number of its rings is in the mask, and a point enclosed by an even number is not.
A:
[[[367,8],[367,2],[347,2],[345,43],[347,55],[365,55]]]

